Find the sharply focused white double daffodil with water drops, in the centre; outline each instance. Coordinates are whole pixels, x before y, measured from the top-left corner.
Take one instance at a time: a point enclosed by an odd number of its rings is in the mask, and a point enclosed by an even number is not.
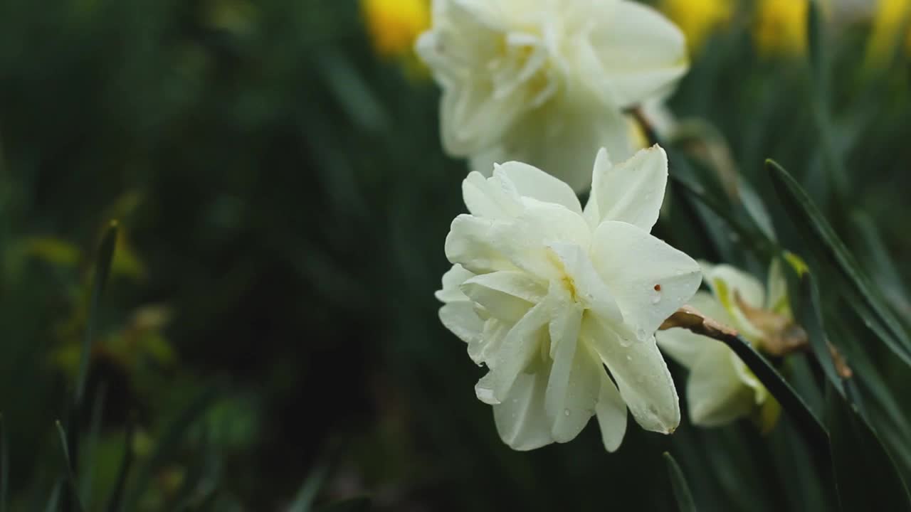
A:
[[[601,149],[585,210],[566,183],[524,163],[463,182],[470,214],[446,237],[454,265],[436,296],[443,324],[489,369],[476,394],[507,445],[565,443],[595,415],[614,451],[628,407],[651,431],[680,423],[654,333],[701,273],[649,233],[667,175],[657,146],[617,166]]]

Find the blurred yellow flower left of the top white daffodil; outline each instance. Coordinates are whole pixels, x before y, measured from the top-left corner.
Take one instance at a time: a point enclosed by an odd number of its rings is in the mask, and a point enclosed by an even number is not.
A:
[[[427,0],[362,0],[364,22],[380,56],[412,53],[415,39],[430,26]]]

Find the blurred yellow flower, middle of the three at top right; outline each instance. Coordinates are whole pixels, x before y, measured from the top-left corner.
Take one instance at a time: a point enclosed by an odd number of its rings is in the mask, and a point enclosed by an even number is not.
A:
[[[802,54],[806,47],[808,0],[761,0],[753,42],[762,56]]]

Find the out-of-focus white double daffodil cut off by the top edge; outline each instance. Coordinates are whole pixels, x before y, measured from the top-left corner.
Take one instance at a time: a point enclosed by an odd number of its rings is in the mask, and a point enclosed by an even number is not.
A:
[[[636,148],[622,110],[688,67],[681,31],[626,0],[435,0],[432,18],[416,49],[443,87],[443,146],[486,175],[520,160],[587,188],[599,148]]]

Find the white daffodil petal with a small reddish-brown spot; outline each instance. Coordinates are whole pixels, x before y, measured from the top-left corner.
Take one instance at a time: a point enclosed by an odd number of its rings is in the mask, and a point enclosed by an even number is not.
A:
[[[699,288],[696,261],[626,222],[608,220],[592,237],[592,263],[639,337],[658,330]]]

